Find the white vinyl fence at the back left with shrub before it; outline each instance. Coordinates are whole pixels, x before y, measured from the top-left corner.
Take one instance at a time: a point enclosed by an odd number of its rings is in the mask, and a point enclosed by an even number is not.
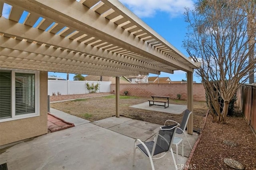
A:
[[[86,83],[89,83],[90,86],[92,85],[92,83],[94,84],[94,86],[98,83],[99,90],[97,90],[96,93],[110,92],[111,82],[48,80],[48,95],[52,96],[53,93],[58,95],[58,92],[61,95],[88,94],[89,90],[86,87]]]

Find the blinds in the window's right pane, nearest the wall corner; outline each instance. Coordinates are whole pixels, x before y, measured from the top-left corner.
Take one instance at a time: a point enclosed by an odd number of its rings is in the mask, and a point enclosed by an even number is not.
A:
[[[35,74],[15,73],[15,115],[35,113]]]

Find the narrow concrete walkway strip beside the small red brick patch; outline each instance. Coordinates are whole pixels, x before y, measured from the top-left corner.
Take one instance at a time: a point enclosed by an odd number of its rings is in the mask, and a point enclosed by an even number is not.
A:
[[[74,115],[70,115],[68,113],[65,113],[63,111],[60,111],[54,108],[50,108],[50,113],[52,113],[53,115],[56,115],[57,117],[60,117],[61,119],[64,119],[65,121],[74,123],[75,126],[90,122],[88,120],[82,119],[80,117],[76,117]]]

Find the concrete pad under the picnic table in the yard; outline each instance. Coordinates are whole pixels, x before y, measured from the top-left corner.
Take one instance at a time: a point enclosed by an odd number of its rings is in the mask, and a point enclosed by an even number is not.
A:
[[[181,114],[184,110],[187,109],[186,105],[169,104],[169,107],[164,108],[163,106],[149,106],[148,102],[136,104],[136,105],[130,106],[130,107],[134,107],[137,109],[161,111],[161,112],[172,113],[172,114]]]

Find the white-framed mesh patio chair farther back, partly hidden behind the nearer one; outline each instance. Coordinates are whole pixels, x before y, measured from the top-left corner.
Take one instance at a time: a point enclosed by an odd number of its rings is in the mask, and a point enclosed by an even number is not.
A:
[[[182,156],[183,156],[183,152],[184,152],[184,151],[183,151],[183,139],[180,138],[180,137],[178,137],[178,136],[181,136],[181,135],[184,134],[184,136],[186,137],[186,139],[187,139],[187,141],[188,141],[188,138],[187,138],[187,136],[186,136],[186,133],[184,133],[184,131],[185,131],[185,129],[186,129],[186,126],[187,126],[187,123],[188,123],[188,119],[189,119],[191,113],[192,113],[192,111],[190,111],[190,110],[188,110],[188,109],[186,109],[186,110],[184,111],[184,114],[183,114],[183,117],[182,117],[182,121],[181,121],[181,123],[180,123],[180,127],[177,127],[177,130],[176,130],[176,134],[175,134],[176,137],[175,137],[175,139],[174,139],[174,142],[172,143],[172,144],[176,145],[176,160],[178,159],[178,145],[179,145],[180,143],[182,143]],[[166,120],[166,121],[164,122],[164,125],[166,125],[166,123],[167,123],[168,121],[172,121],[172,122],[174,122],[174,123],[177,123],[176,121],[173,121],[173,120]],[[188,141],[188,144],[189,144],[189,146],[190,146],[190,148],[191,148],[191,150],[192,150],[192,147],[191,147],[189,141]]]

